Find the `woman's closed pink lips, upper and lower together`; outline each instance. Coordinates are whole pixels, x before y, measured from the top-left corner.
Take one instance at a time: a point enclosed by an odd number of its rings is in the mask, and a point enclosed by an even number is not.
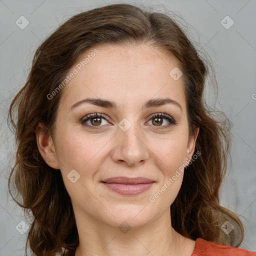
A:
[[[112,177],[101,181],[108,189],[122,195],[136,195],[148,190],[154,181],[144,177]]]

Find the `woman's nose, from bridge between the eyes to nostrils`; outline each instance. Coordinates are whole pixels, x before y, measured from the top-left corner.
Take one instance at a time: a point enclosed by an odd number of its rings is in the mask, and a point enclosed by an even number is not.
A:
[[[146,137],[133,114],[122,119],[114,136],[112,160],[127,166],[136,166],[149,158]]]

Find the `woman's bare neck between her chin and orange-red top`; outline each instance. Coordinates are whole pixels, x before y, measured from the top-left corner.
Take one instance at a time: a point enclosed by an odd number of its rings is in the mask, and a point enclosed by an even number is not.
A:
[[[130,229],[109,226],[75,214],[79,245],[75,256],[190,256],[195,242],[171,227],[170,209],[158,219]]]

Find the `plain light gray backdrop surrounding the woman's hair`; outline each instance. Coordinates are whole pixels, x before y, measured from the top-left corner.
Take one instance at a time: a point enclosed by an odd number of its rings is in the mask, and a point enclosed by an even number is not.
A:
[[[0,255],[24,255],[26,231],[16,225],[26,221],[7,195],[9,160],[14,153],[13,135],[6,125],[10,99],[24,84],[33,52],[65,19],[107,0],[0,0]],[[139,1],[142,3],[141,1]],[[232,167],[221,188],[220,202],[240,215],[245,237],[241,248],[256,250],[256,1],[255,0],[144,0],[182,16],[190,39],[214,62],[219,100],[232,132]],[[25,16],[29,24],[20,29],[15,21]],[[226,29],[220,21],[228,15],[234,24]],[[182,22],[182,21],[181,21]],[[227,25],[230,21],[227,21]],[[210,90],[207,95],[212,101]],[[214,101],[214,100],[213,100]],[[217,103],[218,106],[218,103]],[[19,224],[20,225],[20,224]],[[156,256],[156,255],[155,255]]]

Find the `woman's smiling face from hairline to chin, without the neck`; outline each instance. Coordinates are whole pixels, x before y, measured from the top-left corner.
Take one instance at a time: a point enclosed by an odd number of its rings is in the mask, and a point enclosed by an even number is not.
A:
[[[74,75],[62,88],[55,158],[46,162],[60,169],[76,218],[140,226],[160,218],[175,199],[198,129],[188,136],[183,76],[174,58],[147,44],[96,49],[68,72]],[[153,182],[102,182],[116,176]]]

